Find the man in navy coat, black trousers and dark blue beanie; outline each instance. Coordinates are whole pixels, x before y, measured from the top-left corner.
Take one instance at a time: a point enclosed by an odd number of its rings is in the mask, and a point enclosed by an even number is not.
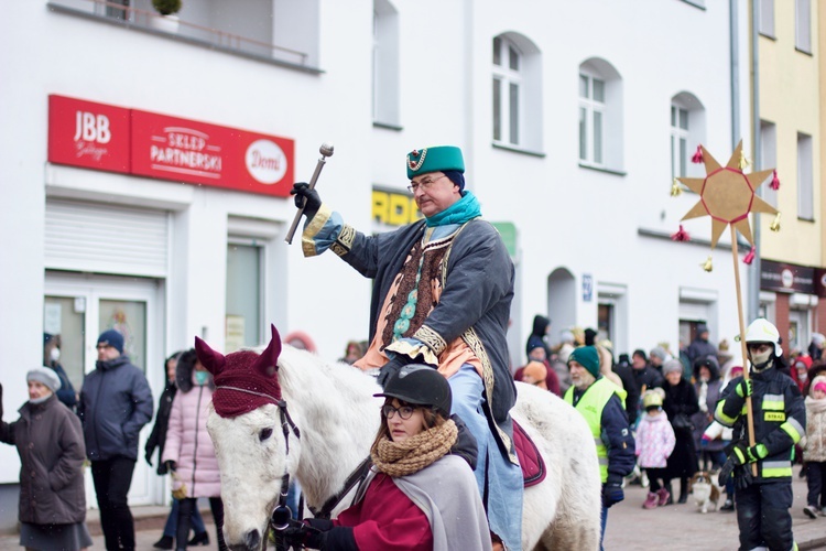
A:
[[[152,420],[146,377],[123,354],[123,335],[100,334],[95,370],[86,375],[77,415],[100,507],[106,549],[134,549],[134,520],[127,494],[138,460],[138,435]]]

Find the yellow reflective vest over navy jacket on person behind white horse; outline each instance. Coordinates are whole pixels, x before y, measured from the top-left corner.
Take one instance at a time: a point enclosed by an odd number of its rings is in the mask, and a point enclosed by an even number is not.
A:
[[[602,484],[621,483],[622,477],[633,471],[637,461],[634,440],[622,407],[626,391],[605,377],[582,393],[576,387],[565,392],[565,401],[574,406],[590,426]]]

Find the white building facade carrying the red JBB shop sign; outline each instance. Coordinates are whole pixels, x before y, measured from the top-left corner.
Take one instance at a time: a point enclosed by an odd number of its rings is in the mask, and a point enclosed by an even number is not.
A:
[[[676,352],[699,322],[730,341],[730,240],[710,250],[699,219],[673,241],[697,197],[670,191],[704,174],[697,144],[725,161],[749,141],[748,13],[745,0],[188,0],[170,21],[150,0],[7,6],[6,420],[42,333],[61,334],[79,388],[97,335],[120,328],[155,397],[164,358],[195,335],[230,352],[273,323],[330,359],[367,338],[370,282],[284,241],[287,191],[324,142],[318,191],[363,231],[417,216],[406,152],[463,148],[517,266],[514,367],[537,313],[552,342],[598,327],[616,353]],[[18,465],[0,449],[4,511]],[[141,463],[132,503],[167,495]]]

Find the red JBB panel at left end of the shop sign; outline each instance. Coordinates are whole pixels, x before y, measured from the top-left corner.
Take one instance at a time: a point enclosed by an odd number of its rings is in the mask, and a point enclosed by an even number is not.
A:
[[[48,96],[48,162],[129,173],[129,109]]]

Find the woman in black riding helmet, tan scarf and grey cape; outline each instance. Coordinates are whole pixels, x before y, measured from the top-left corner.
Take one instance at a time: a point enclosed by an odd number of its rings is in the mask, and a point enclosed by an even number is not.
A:
[[[409,365],[376,396],[385,398],[381,426],[355,504],[335,520],[287,528],[287,543],[329,551],[491,549],[474,472],[460,457],[472,461],[475,450],[463,449],[449,417],[447,380]]]

